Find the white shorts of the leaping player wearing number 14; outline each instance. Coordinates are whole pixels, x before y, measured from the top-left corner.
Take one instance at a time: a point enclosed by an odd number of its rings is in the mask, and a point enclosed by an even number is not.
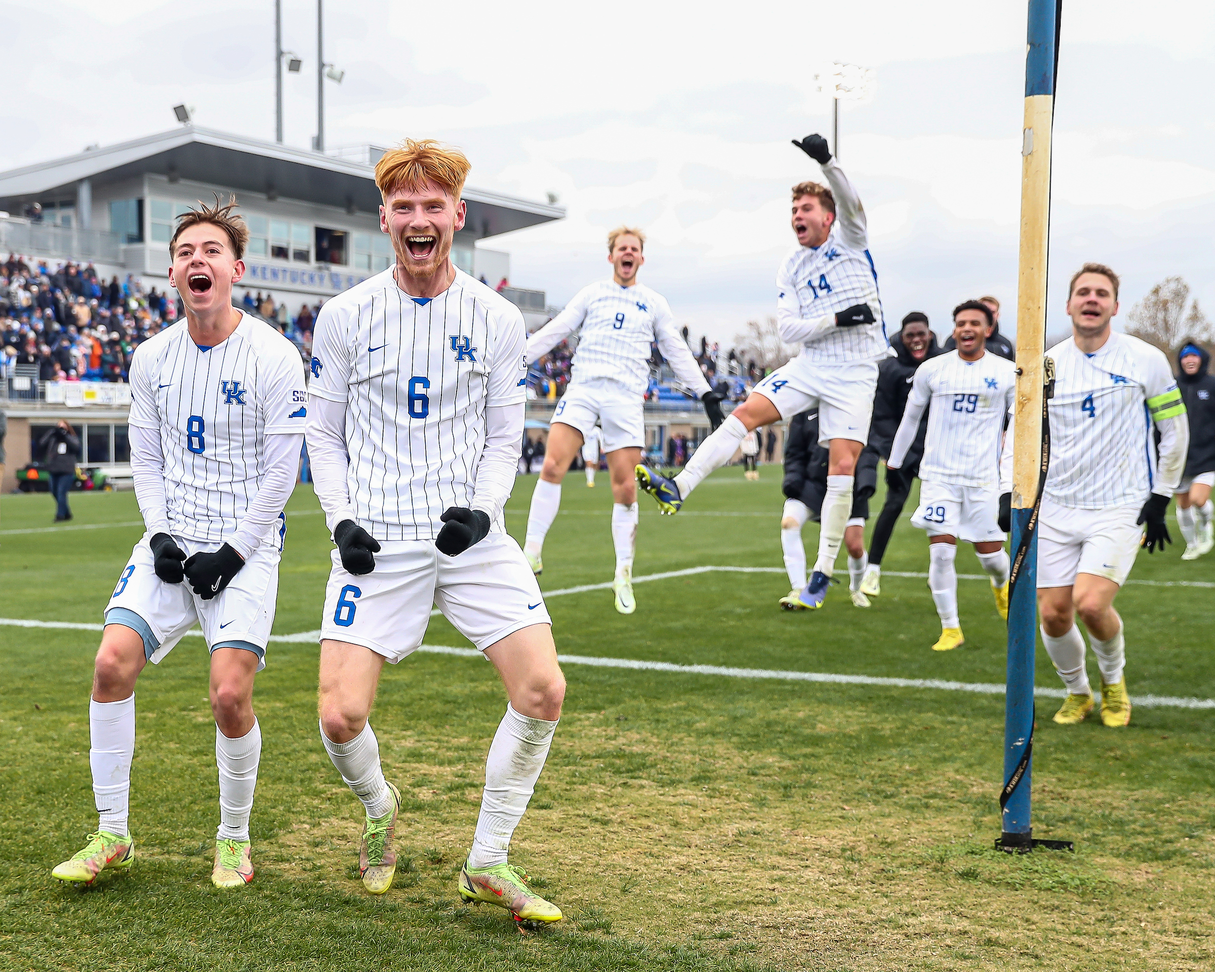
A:
[[[877,389],[876,361],[821,364],[795,357],[752,389],[776,406],[781,418],[818,409],[819,445],[832,439],[869,441]]]

